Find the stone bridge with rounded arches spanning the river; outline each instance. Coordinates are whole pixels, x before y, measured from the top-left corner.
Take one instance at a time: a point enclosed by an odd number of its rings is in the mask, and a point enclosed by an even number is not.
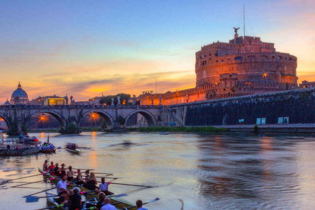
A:
[[[2,105],[0,106],[0,117],[7,123],[8,128],[22,130],[32,117],[38,114],[47,113],[54,116],[60,126],[65,128],[68,123],[80,125],[85,116],[91,113],[100,115],[107,124],[108,129],[119,128],[117,122],[120,117],[125,118],[125,127],[130,116],[139,113],[148,126],[165,125],[172,121],[171,114],[162,105]],[[164,120],[166,119],[166,121]]]

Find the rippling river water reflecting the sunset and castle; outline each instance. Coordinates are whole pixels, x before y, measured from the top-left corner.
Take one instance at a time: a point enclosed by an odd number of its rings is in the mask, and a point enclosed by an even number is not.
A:
[[[30,134],[33,135],[40,141],[47,140],[46,133]],[[245,133],[90,132],[75,136],[50,133],[49,141],[57,147],[73,142],[96,151],[82,150],[76,155],[61,149],[53,155],[0,157],[0,178],[37,174],[37,167],[48,159],[74,168],[114,173],[114,177],[121,177],[115,180],[117,183],[158,186],[109,186],[117,194],[127,193],[129,196],[124,198],[131,202],[161,198],[146,205],[151,210],[180,209],[178,198],[184,200],[184,209],[312,209],[314,139],[312,135]],[[135,144],[120,145],[124,142]],[[35,176],[16,182],[40,179]],[[44,198],[37,203],[25,203],[17,197],[51,188],[51,184],[24,187],[32,188],[0,189],[0,209],[8,209],[12,203],[15,208],[26,210],[46,205]]]

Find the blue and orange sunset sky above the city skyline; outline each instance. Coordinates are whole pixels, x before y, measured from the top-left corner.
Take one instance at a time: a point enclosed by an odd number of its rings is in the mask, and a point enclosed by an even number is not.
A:
[[[195,87],[195,53],[233,27],[297,56],[315,81],[315,1],[0,1],[0,104],[20,81],[29,99],[76,101]]]

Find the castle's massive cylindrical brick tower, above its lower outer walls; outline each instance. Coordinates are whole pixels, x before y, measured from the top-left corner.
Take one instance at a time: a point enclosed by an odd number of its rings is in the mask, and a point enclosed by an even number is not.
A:
[[[235,37],[212,43],[196,53],[196,86],[216,84],[221,74],[238,74],[239,82],[297,84],[297,58],[276,52],[274,43],[259,37]]]

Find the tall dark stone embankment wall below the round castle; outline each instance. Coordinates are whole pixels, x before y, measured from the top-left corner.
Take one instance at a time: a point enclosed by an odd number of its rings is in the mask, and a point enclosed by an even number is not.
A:
[[[315,123],[315,88],[167,106],[184,126]]]

